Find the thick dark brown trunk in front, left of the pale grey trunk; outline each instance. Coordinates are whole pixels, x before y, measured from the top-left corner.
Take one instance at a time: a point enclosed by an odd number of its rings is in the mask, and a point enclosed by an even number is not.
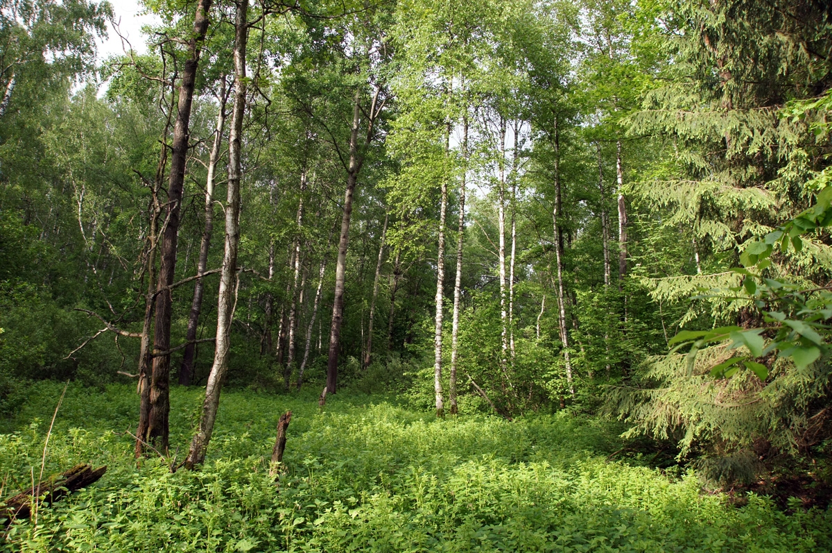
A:
[[[196,69],[200,61],[202,42],[208,30],[208,16],[211,0],[199,0],[191,39],[188,41],[188,56],[182,68],[179,87],[179,104],[176,108],[176,124],[173,127],[171,144],[171,173],[167,187],[167,225],[161,243],[161,267],[156,286],[156,324],[154,326],[154,353],[171,349],[171,289],[176,270],[176,237],[179,233],[179,215],[182,193],[185,187],[185,168],[190,138],[191,104],[194,98]],[[157,450],[166,452],[168,446],[168,421],[171,411],[171,356],[159,355],[153,358],[151,376],[151,402],[147,441]]]

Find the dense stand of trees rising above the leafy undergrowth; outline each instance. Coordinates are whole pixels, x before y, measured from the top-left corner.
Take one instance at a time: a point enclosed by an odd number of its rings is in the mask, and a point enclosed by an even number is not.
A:
[[[224,381],[346,384],[830,484],[823,205],[758,246],[830,183],[824,2],[313,3],[146,2],[98,66],[106,2],[2,4],[2,411],[138,377],[166,453],[207,382],[198,465]]]

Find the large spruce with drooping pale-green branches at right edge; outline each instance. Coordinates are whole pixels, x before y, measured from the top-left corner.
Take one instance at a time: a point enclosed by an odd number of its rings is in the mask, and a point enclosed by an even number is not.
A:
[[[666,330],[673,349],[612,387],[607,408],[631,434],[676,441],[706,480],[728,486],[785,458],[814,459],[828,432],[826,422],[809,430],[825,421],[830,394],[826,292],[815,290],[832,267],[816,230],[827,223],[825,193],[809,206],[828,171],[829,59],[799,44],[828,49],[829,22],[810,2],[640,9],[649,30],[636,42],[667,62],[626,117],[631,135],[652,134],[659,152],[631,191],[652,229],[691,246],[696,266],[649,260],[640,280],[678,316]],[[799,23],[795,9],[805,10]]]

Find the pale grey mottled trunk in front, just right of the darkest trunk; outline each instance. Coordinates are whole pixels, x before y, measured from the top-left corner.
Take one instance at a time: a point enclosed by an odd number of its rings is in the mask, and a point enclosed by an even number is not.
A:
[[[237,287],[237,247],[240,242],[240,146],[245,116],[245,42],[248,37],[248,0],[238,0],[234,37],[234,111],[228,137],[228,196],[225,200],[225,256],[220,274],[220,291],[216,312],[216,347],[202,403],[199,430],[191,441],[185,465],[192,469],[205,461],[206,449],[214,431],[216,411],[220,406],[220,390],[228,368],[231,320],[234,317]]]

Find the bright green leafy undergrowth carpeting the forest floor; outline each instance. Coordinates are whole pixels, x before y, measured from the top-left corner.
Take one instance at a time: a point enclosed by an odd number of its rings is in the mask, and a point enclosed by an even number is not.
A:
[[[31,485],[62,385],[33,385],[2,422],[4,495]],[[184,455],[201,396],[171,394],[171,451]],[[0,551],[832,551],[829,511],[727,506],[693,475],[607,461],[620,431],[567,414],[436,420],[392,398],[224,392],[200,471],[136,468],[131,386],[69,386],[45,475],[106,464],[96,485]],[[293,411],[285,476],[268,476],[280,414]]]

